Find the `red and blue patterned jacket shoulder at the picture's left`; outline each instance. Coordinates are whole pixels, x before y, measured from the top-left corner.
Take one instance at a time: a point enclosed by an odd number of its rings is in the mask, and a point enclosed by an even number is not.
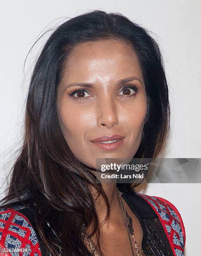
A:
[[[11,256],[23,255],[23,252],[41,256],[38,238],[30,221],[13,208],[0,209],[0,249]]]

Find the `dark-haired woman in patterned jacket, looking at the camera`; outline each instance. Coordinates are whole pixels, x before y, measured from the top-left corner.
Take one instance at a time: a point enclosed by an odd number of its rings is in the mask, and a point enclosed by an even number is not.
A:
[[[99,10],[59,26],[31,77],[24,143],[1,202],[2,250],[183,255],[174,205],[137,184],[96,182],[97,158],[158,157],[169,118],[162,57],[144,28]]]

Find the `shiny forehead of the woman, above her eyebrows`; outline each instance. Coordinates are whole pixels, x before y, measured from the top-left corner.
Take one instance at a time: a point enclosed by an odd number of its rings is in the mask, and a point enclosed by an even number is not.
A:
[[[114,39],[75,46],[64,70],[64,79],[74,82],[79,82],[78,79],[107,82],[129,76],[143,80],[137,55],[132,46]]]

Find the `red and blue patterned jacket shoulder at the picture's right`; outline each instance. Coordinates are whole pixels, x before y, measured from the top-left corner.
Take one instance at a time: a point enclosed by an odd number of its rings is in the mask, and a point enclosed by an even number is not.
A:
[[[186,232],[181,215],[175,205],[162,197],[149,196],[141,193],[137,193],[137,195],[146,200],[153,208],[163,225],[176,255],[180,255],[179,251],[183,252],[185,247]]]

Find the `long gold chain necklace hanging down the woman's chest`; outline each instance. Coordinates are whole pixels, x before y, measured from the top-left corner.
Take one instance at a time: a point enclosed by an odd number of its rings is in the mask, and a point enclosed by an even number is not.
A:
[[[123,215],[124,215],[125,226],[127,228],[128,238],[129,238],[129,242],[130,242],[130,248],[131,248],[131,251],[132,251],[132,256],[134,256],[134,252],[133,252],[133,248],[132,248],[132,242],[133,242],[134,247],[135,247],[136,255],[140,256],[139,249],[137,247],[137,242],[136,242],[136,239],[135,239],[135,236],[134,236],[134,231],[133,231],[133,228],[132,228],[132,218],[128,215],[127,210],[125,209],[125,207],[123,205],[122,198],[121,198],[122,194],[123,193],[120,192],[119,189],[117,188],[117,196],[118,196],[118,199],[120,201],[121,210],[122,210]],[[81,233],[81,235],[83,236],[83,238],[86,241],[87,245],[91,249],[92,254],[94,256],[98,256],[96,250],[94,249],[94,246],[89,241],[89,239],[84,235],[83,232]],[[131,237],[130,236],[132,237],[132,241],[131,241]]]

